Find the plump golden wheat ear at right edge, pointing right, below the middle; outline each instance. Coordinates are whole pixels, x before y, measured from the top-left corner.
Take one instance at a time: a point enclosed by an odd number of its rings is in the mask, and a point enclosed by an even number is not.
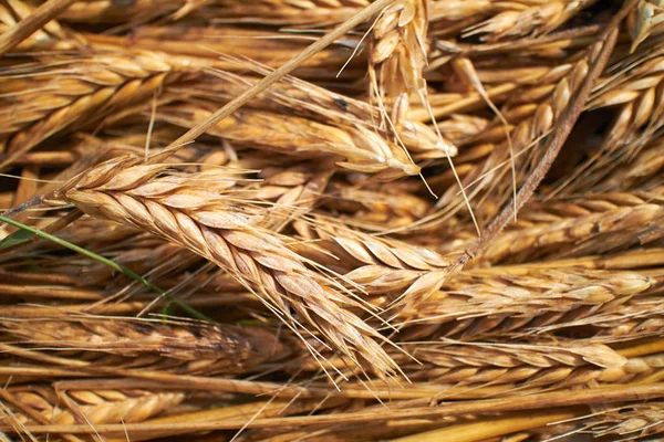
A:
[[[658,280],[636,272],[563,266],[513,275],[461,272],[448,278],[440,292],[417,309],[403,313],[404,322],[413,325],[405,336],[474,339],[526,334],[567,320],[594,318],[660,284]]]

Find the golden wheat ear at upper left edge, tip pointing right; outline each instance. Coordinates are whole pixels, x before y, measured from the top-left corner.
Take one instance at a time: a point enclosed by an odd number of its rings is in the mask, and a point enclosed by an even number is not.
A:
[[[63,129],[81,127],[128,103],[151,97],[179,75],[159,56],[147,52],[129,56],[98,54],[52,63],[50,70],[39,73],[37,81],[30,78],[34,74],[31,66],[3,72],[4,124],[0,133],[9,156],[0,167],[11,165]]]

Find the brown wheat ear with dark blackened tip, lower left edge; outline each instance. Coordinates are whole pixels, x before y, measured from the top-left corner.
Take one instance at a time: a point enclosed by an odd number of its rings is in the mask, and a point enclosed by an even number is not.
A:
[[[157,355],[196,365],[206,360],[227,372],[279,358],[288,350],[264,330],[104,317],[2,319],[8,336],[37,347],[73,348],[121,356]]]

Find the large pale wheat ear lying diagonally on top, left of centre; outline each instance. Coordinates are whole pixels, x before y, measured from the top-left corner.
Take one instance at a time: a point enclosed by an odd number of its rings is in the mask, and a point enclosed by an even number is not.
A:
[[[134,166],[136,162],[136,158],[124,157],[102,164],[66,191],[68,200],[93,215],[186,246],[251,287],[284,320],[292,320],[293,308],[356,364],[355,355],[376,373],[393,372],[394,362],[373,340],[380,335],[336,304],[356,303],[308,270],[282,239],[252,227],[241,210],[232,209],[232,198],[211,193],[209,178],[155,179],[165,169],[163,165]]]

